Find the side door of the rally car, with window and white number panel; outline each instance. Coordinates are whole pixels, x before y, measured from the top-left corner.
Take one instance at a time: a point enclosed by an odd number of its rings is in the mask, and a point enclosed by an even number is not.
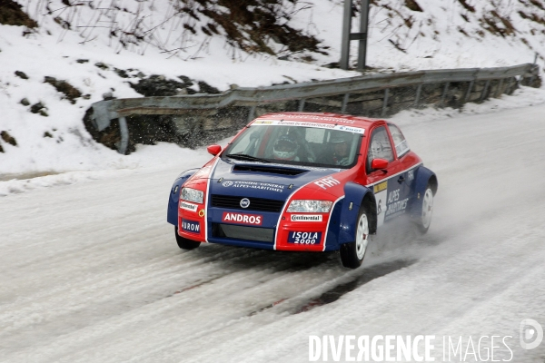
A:
[[[372,160],[384,159],[388,162],[385,169],[373,170]],[[390,221],[400,210],[406,208],[403,182],[406,176],[399,160],[396,159],[391,144],[391,137],[385,125],[372,129],[367,146],[366,158],[367,186],[372,188],[377,203],[377,225]]]

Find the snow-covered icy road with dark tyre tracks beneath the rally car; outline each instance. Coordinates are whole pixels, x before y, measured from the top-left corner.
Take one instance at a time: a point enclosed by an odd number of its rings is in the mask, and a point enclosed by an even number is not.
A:
[[[438,174],[434,221],[381,233],[359,270],[334,253],[178,250],[178,168],[0,197],[0,360],[302,362],[309,335],[424,334],[436,361],[443,336],[465,350],[492,335],[514,356],[494,359],[543,361],[519,326],[545,326],[545,106],[400,124]]]

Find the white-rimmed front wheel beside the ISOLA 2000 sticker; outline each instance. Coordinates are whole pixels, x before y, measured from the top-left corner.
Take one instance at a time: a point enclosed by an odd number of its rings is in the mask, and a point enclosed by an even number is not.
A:
[[[365,258],[365,252],[369,247],[370,241],[370,217],[371,213],[362,206],[356,220],[354,241],[341,245],[342,266],[349,269],[357,269],[362,266],[363,258]]]

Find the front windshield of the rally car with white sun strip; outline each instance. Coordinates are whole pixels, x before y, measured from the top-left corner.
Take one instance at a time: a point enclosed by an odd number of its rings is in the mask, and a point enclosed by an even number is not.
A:
[[[343,128],[335,125],[305,127],[293,123],[253,123],[222,156],[249,162],[348,169],[357,162],[363,129],[351,127],[354,132],[347,132]]]

